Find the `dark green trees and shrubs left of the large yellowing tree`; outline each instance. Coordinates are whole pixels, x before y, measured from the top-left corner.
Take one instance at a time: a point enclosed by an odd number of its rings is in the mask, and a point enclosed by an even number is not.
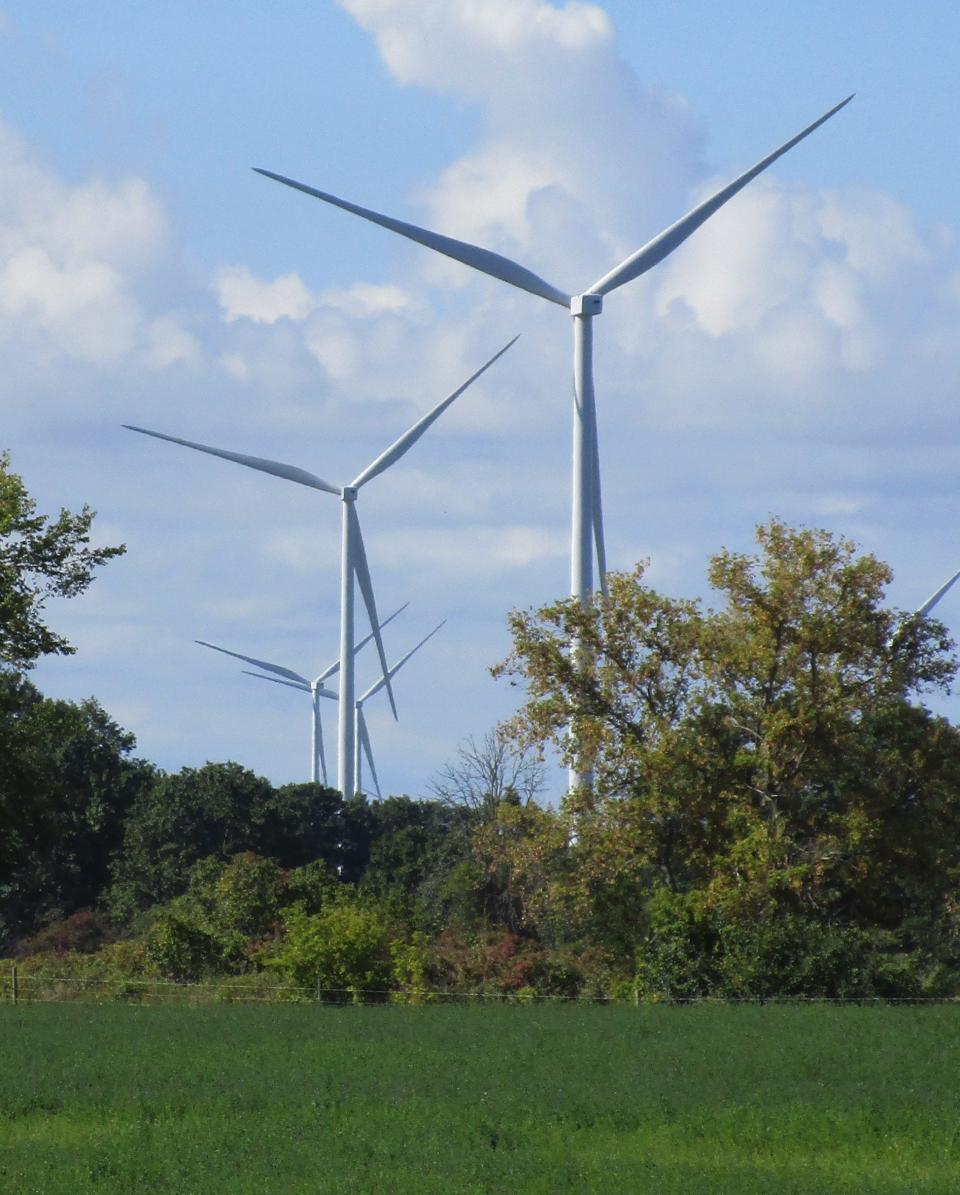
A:
[[[507,810],[524,816],[512,788],[472,801],[453,770],[463,799],[371,802],[274,788],[238,764],[169,774],[133,758],[93,700],[0,672],[0,703],[14,764],[0,782],[0,956],[26,976],[261,976],[343,998],[610,986],[601,951],[527,932],[484,852]]]

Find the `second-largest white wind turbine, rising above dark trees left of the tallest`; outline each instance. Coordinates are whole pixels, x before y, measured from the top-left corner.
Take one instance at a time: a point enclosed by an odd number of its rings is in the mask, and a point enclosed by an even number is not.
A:
[[[338,497],[342,503],[341,511],[341,598],[340,598],[340,710],[338,710],[338,722],[337,722],[337,788],[344,795],[344,797],[350,797],[354,793],[354,581],[360,586],[360,593],[362,594],[363,602],[367,607],[367,615],[369,618],[371,630],[373,631],[373,637],[377,641],[377,651],[380,656],[380,667],[384,674],[384,682],[386,685],[387,697],[390,698],[390,706],[393,710],[393,717],[397,716],[397,704],[393,700],[393,691],[390,687],[390,679],[387,676],[386,667],[386,654],[384,651],[384,643],[380,638],[380,620],[377,615],[377,602],[373,596],[373,583],[371,582],[369,568],[367,565],[367,553],[363,547],[363,537],[360,531],[360,519],[356,514],[356,496],[360,489],[367,484],[367,482],[373,480],[385,470],[390,468],[391,465],[396,462],[420,440],[423,433],[430,427],[430,424],[438,419],[444,411],[453,403],[454,399],[459,398],[460,394],[476,381],[477,378],[497,360],[501,357],[512,344],[516,342],[518,337],[514,337],[507,344],[495,353],[490,360],[481,366],[476,373],[471,374],[467,380],[448,394],[442,402],[438,403],[432,411],[428,411],[421,419],[418,419],[409,430],[395,441],[385,452],[371,461],[369,465],[362,472],[350,482],[349,485],[334,485],[330,482],[325,482],[322,477],[317,477],[314,473],[308,473],[304,468],[299,468],[295,465],[285,465],[281,461],[267,460],[262,456],[247,456],[244,453],[226,452],[222,448],[212,448],[209,445],[196,443],[192,440],[181,440],[178,436],[169,436],[163,431],[151,431],[147,428],[137,428],[133,424],[124,423],[123,427],[128,428],[130,431],[140,431],[147,436],[154,436],[157,440],[169,440],[175,445],[183,445],[185,448],[195,448],[197,452],[209,453],[212,456],[221,456],[224,460],[236,461],[238,465],[246,465],[249,468],[259,470],[262,473],[271,473],[274,477],[282,477],[288,482],[296,482],[299,485],[306,485],[313,490],[322,490],[324,494],[332,494]]]

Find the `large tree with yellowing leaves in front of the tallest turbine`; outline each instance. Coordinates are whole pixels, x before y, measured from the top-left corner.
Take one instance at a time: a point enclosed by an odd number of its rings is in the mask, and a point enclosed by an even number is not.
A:
[[[594,758],[564,810],[592,932],[673,991],[882,987],[906,957],[938,982],[960,960],[960,735],[918,698],[949,685],[952,643],[886,608],[889,569],[854,544],[775,520],[758,545],[713,559],[716,612],[637,569],[513,615],[527,741],[565,750],[577,719]]]

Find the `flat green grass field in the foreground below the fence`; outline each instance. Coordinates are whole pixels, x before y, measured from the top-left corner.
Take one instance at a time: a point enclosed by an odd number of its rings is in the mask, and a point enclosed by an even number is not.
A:
[[[0,1190],[960,1191],[960,1009],[0,1007]]]

